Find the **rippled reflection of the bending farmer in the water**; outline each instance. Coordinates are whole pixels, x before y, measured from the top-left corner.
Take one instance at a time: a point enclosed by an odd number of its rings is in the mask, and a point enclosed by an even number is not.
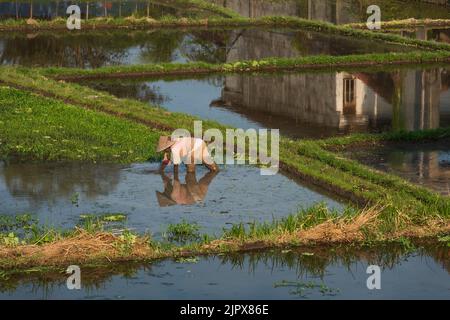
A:
[[[156,198],[160,207],[174,205],[191,205],[202,202],[208,188],[217,172],[210,171],[197,181],[195,172],[187,172],[185,183],[181,183],[178,172],[174,173],[173,182],[164,172],[161,172],[161,178],[164,183],[164,191],[156,191]]]

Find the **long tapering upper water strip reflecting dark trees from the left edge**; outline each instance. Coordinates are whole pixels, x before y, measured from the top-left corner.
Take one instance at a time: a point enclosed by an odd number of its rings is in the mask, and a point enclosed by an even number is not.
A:
[[[197,29],[0,34],[0,64],[97,68],[159,62],[211,63],[267,57],[404,51],[377,41],[316,32]]]

